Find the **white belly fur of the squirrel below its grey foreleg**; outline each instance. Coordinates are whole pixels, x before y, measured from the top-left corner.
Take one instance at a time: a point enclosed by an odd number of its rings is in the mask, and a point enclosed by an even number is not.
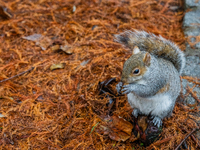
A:
[[[128,102],[132,108],[137,108],[141,113],[145,115],[155,115],[161,117],[160,114],[164,111],[170,110],[169,108],[172,105],[172,100],[170,97],[165,94],[157,94],[150,98],[142,98],[133,93],[127,95]],[[161,117],[162,118],[162,117]]]

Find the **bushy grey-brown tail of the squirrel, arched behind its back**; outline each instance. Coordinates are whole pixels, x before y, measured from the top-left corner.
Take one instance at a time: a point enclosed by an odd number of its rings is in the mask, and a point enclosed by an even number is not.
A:
[[[115,41],[130,49],[138,46],[141,51],[169,60],[180,74],[185,66],[184,53],[173,42],[162,36],[134,30],[115,35]]]

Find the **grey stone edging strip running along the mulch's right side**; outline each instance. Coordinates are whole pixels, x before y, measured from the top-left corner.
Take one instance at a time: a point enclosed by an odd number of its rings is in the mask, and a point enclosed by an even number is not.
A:
[[[187,12],[183,19],[183,30],[186,37],[194,36],[190,38],[191,42],[196,42],[196,36],[200,35],[200,0],[184,0],[185,8],[190,8],[191,11]],[[200,78],[200,42],[195,44],[196,49],[192,49],[189,44],[186,44],[185,56],[186,56],[186,66],[183,70],[182,76],[192,76]],[[183,95],[186,94],[187,85],[189,87],[193,87],[194,84],[187,81],[182,80],[182,92]],[[198,99],[200,99],[200,87],[196,86],[193,89],[193,92],[196,92]],[[187,104],[195,104],[196,100],[188,95],[185,98],[184,103]],[[195,113],[194,115],[200,116],[199,113]],[[197,138],[200,139],[200,131],[196,132]]]

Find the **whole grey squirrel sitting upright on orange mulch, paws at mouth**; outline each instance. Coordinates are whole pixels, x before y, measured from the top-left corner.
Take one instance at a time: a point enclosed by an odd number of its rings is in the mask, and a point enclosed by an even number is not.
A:
[[[169,40],[145,31],[125,31],[115,41],[132,50],[117,91],[127,94],[132,114],[151,115],[155,126],[172,114],[185,66],[184,53]]]

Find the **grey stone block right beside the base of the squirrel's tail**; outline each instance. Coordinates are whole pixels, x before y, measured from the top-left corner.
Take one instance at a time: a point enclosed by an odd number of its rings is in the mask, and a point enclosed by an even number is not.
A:
[[[186,65],[182,76],[192,76],[200,78],[200,58],[198,56],[187,56]]]

